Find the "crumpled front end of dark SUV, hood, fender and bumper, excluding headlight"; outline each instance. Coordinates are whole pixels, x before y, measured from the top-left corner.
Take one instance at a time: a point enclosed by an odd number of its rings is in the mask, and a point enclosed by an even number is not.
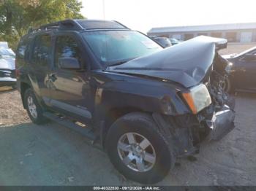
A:
[[[159,130],[174,145],[177,157],[197,152],[203,139],[221,139],[234,128],[234,101],[221,85],[227,77],[228,63],[217,53],[219,44],[211,40],[195,38],[175,46],[178,49],[165,49],[109,67],[104,72],[108,80],[99,80],[101,71],[95,73],[97,81],[102,81],[97,99],[101,104],[97,102],[96,112],[115,106],[151,112]],[[212,103],[192,114],[181,93],[199,83],[208,88]]]

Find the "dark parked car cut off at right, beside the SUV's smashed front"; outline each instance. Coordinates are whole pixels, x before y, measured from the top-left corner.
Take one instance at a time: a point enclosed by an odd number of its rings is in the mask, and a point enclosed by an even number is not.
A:
[[[256,92],[256,47],[224,58],[230,61],[231,71],[224,84],[226,90]]]

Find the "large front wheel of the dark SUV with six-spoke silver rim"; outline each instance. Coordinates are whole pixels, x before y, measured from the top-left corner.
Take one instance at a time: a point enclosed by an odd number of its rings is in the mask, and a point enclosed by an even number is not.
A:
[[[111,163],[136,182],[159,182],[175,163],[167,139],[148,114],[130,113],[119,118],[111,125],[106,140]]]

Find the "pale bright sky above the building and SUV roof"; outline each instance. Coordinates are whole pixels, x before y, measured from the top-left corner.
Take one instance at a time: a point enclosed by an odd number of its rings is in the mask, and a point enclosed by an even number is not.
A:
[[[255,0],[82,0],[88,19],[117,20],[147,33],[153,27],[256,22]]]

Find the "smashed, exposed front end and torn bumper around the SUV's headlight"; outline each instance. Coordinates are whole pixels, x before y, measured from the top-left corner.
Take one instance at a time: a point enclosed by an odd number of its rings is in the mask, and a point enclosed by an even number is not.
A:
[[[208,141],[222,139],[235,127],[233,123],[235,99],[230,97],[223,86],[223,82],[228,77],[229,64],[216,52],[214,63],[206,78],[203,79],[211,95],[210,106],[197,115],[162,118],[162,123],[170,130],[170,140],[173,141],[173,145],[176,145],[174,149],[177,157],[198,153],[200,142],[206,139]],[[161,121],[161,117],[157,120]]]

